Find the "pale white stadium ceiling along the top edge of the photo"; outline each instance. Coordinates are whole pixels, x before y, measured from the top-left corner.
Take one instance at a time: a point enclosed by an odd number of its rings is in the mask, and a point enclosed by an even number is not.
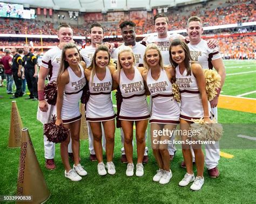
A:
[[[40,7],[55,10],[76,10],[81,12],[132,10],[136,8],[151,10],[157,6],[175,6],[186,2],[205,2],[206,0],[0,0],[5,3],[23,4],[25,8]]]

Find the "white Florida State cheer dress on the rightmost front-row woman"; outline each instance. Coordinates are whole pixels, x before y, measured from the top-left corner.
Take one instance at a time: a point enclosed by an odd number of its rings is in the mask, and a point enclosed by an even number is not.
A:
[[[191,121],[191,119],[204,117],[201,94],[192,70],[191,75],[187,75],[186,69],[181,74],[178,65],[176,67],[176,83],[179,86],[181,97],[180,118]]]

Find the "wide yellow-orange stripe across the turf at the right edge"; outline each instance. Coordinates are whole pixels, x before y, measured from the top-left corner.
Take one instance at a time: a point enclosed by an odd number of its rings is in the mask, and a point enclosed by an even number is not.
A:
[[[256,114],[256,99],[246,99],[237,96],[220,95],[218,108],[251,112]]]

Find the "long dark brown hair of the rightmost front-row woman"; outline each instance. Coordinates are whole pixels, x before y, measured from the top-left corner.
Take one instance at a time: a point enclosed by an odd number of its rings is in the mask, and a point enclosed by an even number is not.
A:
[[[170,62],[172,64],[173,67],[177,67],[178,64],[176,62],[173,61],[172,59],[172,47],[173,46],[178,46],[180,45],[184,52],[185,52],[185,59],[184,59],[184,65],[186,67],[186,70],[187,70],[187,75],[191,75],[191,62],[193,61],[192,57],[191,57],[191,54],[190,54],[190,49],[188,48],[187,44],[180,40],[180,39],[175,39],[171,42],[171,45],[170,45],[170,49],[169,49],[169,54],[170,54]]]

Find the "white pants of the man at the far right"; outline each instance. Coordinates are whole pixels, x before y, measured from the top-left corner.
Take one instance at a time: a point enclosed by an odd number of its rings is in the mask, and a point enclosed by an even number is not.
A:
[[[212,108],[211,112],[214,115],[214,118],[218,122],[218,110],[216,108]],[[194,152],[192,152],[193,161],[194,161]],[[205,145],[205,164],[208,170],[218,166],[220,159],[220,148],[219,142],[215,142],[215,144],[206,144]]]

